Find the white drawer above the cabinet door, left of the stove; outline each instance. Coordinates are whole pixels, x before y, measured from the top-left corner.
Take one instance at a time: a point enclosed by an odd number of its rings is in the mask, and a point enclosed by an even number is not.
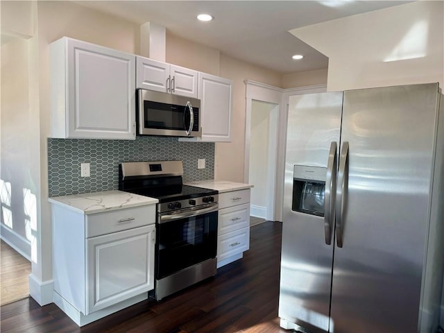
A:
[[[86,216],[86,238],[155,223],[155,205],[126,208]]]

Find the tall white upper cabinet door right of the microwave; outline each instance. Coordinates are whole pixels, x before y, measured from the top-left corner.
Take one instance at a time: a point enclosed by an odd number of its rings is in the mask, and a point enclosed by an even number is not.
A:
[[[232,80],[199,73],[200,141],[231,142]]]

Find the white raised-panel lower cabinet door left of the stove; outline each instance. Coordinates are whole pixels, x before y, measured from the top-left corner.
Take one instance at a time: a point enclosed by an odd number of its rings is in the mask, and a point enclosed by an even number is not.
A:
[[[155,225],[87,239],[87,313],[154,288]]]

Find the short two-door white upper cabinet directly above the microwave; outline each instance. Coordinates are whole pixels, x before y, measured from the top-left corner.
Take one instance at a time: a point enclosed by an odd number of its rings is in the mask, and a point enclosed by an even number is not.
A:
[[[136,87],[197,99],[198,71],[137,56]]]

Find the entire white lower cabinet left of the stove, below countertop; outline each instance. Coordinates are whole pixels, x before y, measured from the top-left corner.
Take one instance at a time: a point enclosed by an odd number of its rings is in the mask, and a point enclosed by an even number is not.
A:
[[[52,205],[54,302],[79,326],[154,289],[155,205],[83,214]]]

